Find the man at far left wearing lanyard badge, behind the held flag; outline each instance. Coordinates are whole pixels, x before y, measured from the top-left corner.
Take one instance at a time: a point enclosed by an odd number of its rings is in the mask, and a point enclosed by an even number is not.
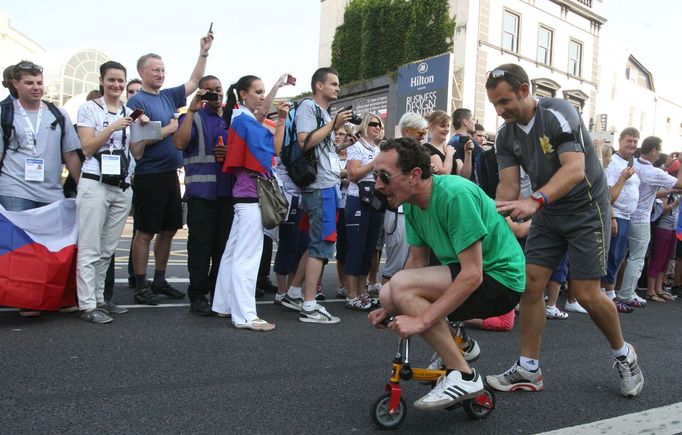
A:
[[[41,66],[19,62],[12,70],[11,84],[16,98],[12,99],[12,131],[3,130],[0,139],[0,205],[5,210],[23,211],[64,199],[62,161],[77,182],[81,161],[76,150],[81,145],[66,111],[54,106],[50,109],[42,100],[45,87]],[[63,124],[52,110],[59,110]],[[39,314],[21,312],[24,317]]]

